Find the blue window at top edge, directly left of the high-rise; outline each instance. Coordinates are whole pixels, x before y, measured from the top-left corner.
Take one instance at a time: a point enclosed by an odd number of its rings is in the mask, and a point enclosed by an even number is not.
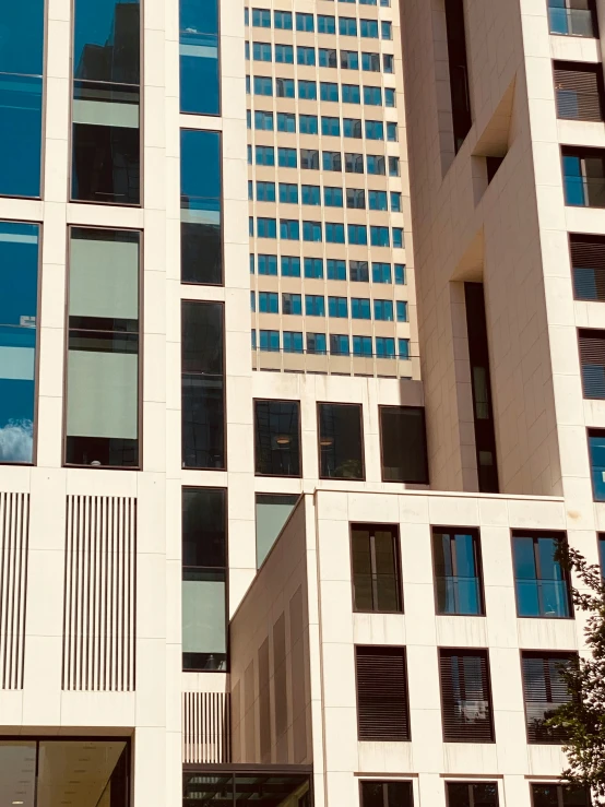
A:
[[[179,41],[181,112],[218,115],[217,0],[180,0]]]

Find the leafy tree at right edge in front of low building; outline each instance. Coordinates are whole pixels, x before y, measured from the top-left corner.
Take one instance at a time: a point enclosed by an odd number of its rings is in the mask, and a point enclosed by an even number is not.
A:
[[[561,546],[558,559],[581,584],[571,586],[571,597],[576,609],[586,614],[584,641],[590,655],[561,667],[570,699],[547,724],[568,737],[565,782],[590,788],[593,804],[605,807],[605,583],[601,568],[577,549]]]

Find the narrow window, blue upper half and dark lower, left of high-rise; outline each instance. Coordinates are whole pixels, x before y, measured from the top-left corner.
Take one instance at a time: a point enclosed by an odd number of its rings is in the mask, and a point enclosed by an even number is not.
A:
[[[180,133],[180,278],[222,285],[221,134]]]

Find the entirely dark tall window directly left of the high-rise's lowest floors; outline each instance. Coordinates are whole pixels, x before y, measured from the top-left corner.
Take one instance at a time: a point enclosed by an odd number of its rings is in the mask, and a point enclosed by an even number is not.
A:
[[[183,467],[225,467],[223,320],[221,302],[182,302]]]

